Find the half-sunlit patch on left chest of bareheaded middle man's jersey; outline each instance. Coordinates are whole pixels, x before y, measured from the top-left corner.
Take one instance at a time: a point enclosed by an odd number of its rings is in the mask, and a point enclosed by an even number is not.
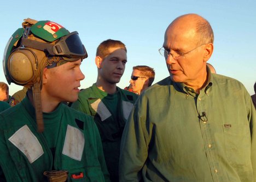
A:
[[[102,122],[103,122],[103,120],[105,120],[111,116],[111,113],[108,111],[108,108],[104,105],[104,103],[101,101],[101,99],[98,99],[94,103],[92,103],[91,107],[101,117]]]

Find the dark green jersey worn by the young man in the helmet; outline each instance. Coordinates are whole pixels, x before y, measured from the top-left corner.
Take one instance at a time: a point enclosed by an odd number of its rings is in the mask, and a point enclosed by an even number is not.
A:
[[[43,173],[52,170],[67,170],[68,181],[109,181],[101,138],[90,116],[60,104],[43,117],[44,132],[39,133],[27,96],[0,114],[1,181],[47,181]]]

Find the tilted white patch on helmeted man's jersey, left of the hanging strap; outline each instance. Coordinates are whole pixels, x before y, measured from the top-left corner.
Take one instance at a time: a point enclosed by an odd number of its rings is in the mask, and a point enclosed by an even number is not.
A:
[[[8,140],[26,155],[30,163],[33,163],[44,154],[43,148],[37,137],[34,136],[27,125],[22,126]]]

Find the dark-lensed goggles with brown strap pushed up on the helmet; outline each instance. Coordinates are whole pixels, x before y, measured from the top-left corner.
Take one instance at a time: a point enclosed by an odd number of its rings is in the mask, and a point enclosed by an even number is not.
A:
[[[54,45],[41,43],[28,38],[22,38],[21,45],[46,51],[48,53],[47,56],[61,56],[63,59],[69,61],[77,60],[79,58],[85,59],[88,57],[78,32],[72,32],[61,37]]]

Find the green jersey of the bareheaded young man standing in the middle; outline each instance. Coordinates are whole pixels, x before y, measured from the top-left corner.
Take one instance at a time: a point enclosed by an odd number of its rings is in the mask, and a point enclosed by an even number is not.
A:
[[[100,131],[105,160],[111,181],[118,181],[120,142],[124,126],[137,100],[135,93],[117,87],[115,94],[108,94],[93,84],[83,89],[72,108],[94,117]]]

